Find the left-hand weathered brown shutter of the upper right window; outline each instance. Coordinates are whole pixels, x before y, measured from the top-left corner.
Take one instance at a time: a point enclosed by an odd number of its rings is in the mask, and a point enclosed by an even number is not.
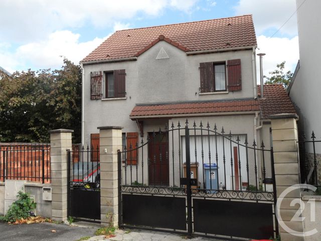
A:
[[[214,70],[213,62],[200,63],[201,88],[200,92],[213,92]]]

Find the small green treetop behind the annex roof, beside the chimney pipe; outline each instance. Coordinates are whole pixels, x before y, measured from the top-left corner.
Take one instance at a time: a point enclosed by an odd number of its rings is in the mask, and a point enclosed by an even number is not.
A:
[[[266,77],[265,75],[263,76],[266,79],[265,84],[283,84],[285,88],[289,86],[289,83],[293,77],[293,73],[290,70],[284,73],[284,64],[285,61],[277,64],[277,69],[269,72],[271,77]]]

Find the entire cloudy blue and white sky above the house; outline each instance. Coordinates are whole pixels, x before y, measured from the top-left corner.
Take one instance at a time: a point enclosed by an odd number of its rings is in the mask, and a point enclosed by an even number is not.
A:
[[[252,14],[264,74],[298,55],[295,0],[2,0],[0,66],[14,72],[75,63],[114,31]],[[273,36],[273,37],[271,37]]]

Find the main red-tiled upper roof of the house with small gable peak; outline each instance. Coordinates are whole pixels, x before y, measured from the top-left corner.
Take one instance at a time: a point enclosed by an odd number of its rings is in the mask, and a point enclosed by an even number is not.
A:
[[[81,62],[135,57],[159,40],[183,51],[255,46],[252,15],[116,31]]]

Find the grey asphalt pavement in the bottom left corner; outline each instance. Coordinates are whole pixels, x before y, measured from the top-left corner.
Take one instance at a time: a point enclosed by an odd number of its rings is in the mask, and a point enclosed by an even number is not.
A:
[[[48,222],[21,225],[0,222],[0,240],[75,241],[84,236],[93,236],[96,229]],[[52,232],[52,230],[56,232]]]

